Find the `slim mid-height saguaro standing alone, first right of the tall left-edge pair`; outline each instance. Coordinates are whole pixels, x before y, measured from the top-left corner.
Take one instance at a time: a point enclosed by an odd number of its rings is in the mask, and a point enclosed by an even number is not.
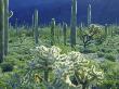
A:
[[[38,37],[39,37],[39,33],[38,33],[38,10],[35,10],[35,43],[36,44],[39,42]]]

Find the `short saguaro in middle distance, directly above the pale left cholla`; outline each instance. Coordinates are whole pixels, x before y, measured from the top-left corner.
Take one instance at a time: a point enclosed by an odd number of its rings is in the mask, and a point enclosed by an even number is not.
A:
[[[51,46],[53,46],[55,43],[55,20],[52,18],[52,22],[51,22]]]

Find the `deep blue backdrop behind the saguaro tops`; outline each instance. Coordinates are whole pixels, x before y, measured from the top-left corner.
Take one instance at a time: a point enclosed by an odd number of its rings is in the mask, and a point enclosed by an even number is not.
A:
[[[92,4],[92,22],[98,24],[119,22],[119,0],[78,0],[78,24],[87,23],[87,8]],[[39,10],[39,24],[49,24],[51,18],[57,23],[70,23],[71,0],[10,0],[14,12],[11,22],[31,23],[35,9]]]

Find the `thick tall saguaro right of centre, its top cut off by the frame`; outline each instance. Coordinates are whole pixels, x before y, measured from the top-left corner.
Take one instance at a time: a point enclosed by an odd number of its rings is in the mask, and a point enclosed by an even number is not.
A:
[[[70,29],[70,42],[71,47],[76,46],[76,29],[77,29],[77,0],[71,0],[71,29]]]

